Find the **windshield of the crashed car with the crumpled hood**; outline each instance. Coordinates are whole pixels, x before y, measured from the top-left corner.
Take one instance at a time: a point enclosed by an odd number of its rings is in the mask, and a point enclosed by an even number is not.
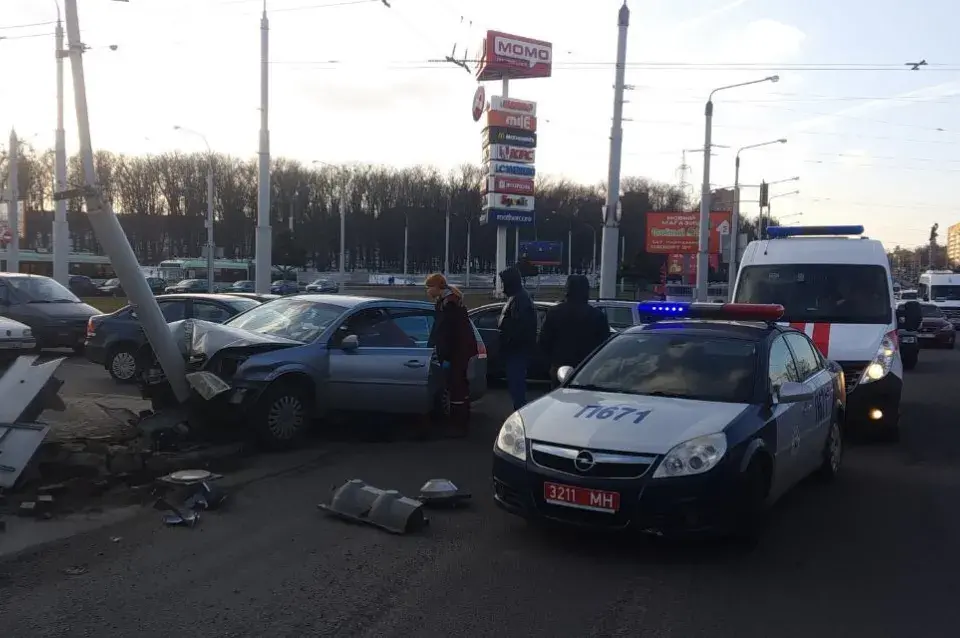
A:
[[[226,323],[257,334],[309,343],[316,340],[343,312],[341,306],[306,299],[276,299]]]

